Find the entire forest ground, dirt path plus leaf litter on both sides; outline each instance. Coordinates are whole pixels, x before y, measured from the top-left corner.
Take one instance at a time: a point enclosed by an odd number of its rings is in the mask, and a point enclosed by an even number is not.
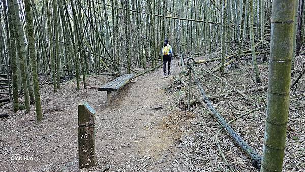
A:
[[[206,57],[202,57],[204,59]],[[305,61],[299,57],[298,77]],[[198,58],[197,58],[198,59]],[[225,79],[239,90],[255,88],[251,76],[251,60],[243,61],[226,71]],[[163,77],[162,68],[140,76],[123,90],[112,93],[110,106],[106,105],[106,92],[96,88],[114,79],[109,76],[88,75],[88,89],[75,89],[75,80],[61,85],[53,93],[52,85],[41,88],[44,120],[35,121],[32,112],[12,113],[12,103],[2,106],[9,118],[0,119],[0,171],[78,171],[78,118],[77,106],[86,101],[96,111],[96,159],[98,165],[89,171],[256,171],[250,159],[223,131],[215,118],[202,106],[190,111],[178,108],[178,102],[187,100],[188,78],[180,74],[178,60],[172,62],[172,75]],[[199,64],[210,68],[211,64]],[[260,61],[262,84],[267,84],[268,65]],[[202,71],[201,71],[202,72]],[[216,73],[217,74],[217,73]],[[208,95],[232,93],[232,89],[213,76],[203,77]],[[217,74],[218,75],[218,74]],[[92,89],[90,89],[92,87]],[[200,96],[192,84],[192,97]],[[304,77],[294,94],[305,93]],[[266,91],[252,93],[246,98],[228,94],[212,102],[226,121],[264,105]],[[305,170],[305,96],[291,99],[284,171]],[[20,98],[22,99],[22,98]],[[153,110],[149,108],[159,108]],[[255,111],[232,123],[232,127],[245,141],[262,154],[266,109]],[[219,152],[217,140],[226,164]],[[32,156],[33,160],[11,160],[12,156]]]

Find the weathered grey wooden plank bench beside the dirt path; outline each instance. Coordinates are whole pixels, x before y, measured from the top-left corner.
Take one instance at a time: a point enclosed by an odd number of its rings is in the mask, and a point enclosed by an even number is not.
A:
[[[101,88],[98,88],[98,91],[107,91],[107,105],[110,104],[111,92],[123,88],[134,76],[135,74],[124,74],[105,84]]]

